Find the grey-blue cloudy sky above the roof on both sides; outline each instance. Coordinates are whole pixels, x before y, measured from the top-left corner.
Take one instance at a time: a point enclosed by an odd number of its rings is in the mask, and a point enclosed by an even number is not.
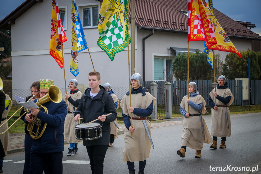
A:
[[[4,19],[23,2],[24,0],[0,0],[0,19]],[[255,24],[256,28],[251,30],[261,36],[261,0],[213,0],[213,7],[232,19]]]

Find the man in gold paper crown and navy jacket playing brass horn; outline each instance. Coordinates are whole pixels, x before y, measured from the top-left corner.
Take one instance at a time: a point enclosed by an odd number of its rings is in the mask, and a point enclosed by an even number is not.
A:
[[[53,84],[53,80],[40,80],[40,98],[48,95],[48,88]],[[39,99],[35,99],[34,103],[36,103],[37,100]],[[41,120],[40,131],[43,129],[44,124],[47,123],[42,136],[32,141],[30,174],[42,173],[45,165],[48,166],[49,173],[62,174],[64,120],[67,114],[66,102],[61,101],[60,103],[54,103],[53,101],[48,101],[42,105],[47,108],[48,113],[44,112],[44,108],[40,110],[29,108],[31,113],[25,116],[25,120],[29,123],[33,121],[31,114],[37,116]]]

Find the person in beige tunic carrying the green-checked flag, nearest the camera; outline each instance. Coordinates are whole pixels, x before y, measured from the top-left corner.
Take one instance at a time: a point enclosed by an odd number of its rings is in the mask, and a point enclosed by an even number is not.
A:
[[[135,161],[139,161],[139,174],[144,173],[146,159],[149,157],[151,148],[150,135],[147,134],[145,126],[148,128],[149,134],[151,134],[151,123],[146,117],[152,114],[156,99],[148,92],[147,88],[142,87],[141,82],[140,74],[133,74],[131,77],[133,87],[131,89],[132,106],[130,105],[129,92],[124,95],[120,103],[123,121],[126,126],[122,155],[123,161],[127,162],[129,174],[135,174]],[[130,113],[132,113],[132,127]]]

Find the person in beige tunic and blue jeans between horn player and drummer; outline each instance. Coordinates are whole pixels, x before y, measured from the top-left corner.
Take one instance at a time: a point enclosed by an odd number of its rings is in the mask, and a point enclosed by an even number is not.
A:
[[[70,92],[64,95],[64,98],[68,100],[68,113],[64,121],[64,136],[67,143],[70,143],[69,152],[67,156],[73,156],[78,152],[78,140],[75,138],[75,126],[74,113],[79,105],[79,101],[82,97],[82,93],[77,89],[78,82],[76,79],[72,79],[69,82]],[[65,100],[64,99],[64,100]]]

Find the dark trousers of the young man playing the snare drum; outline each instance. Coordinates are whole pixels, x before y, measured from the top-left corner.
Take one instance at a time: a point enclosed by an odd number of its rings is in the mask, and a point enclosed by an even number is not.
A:
[[[103,161],[108,145],[86,146],[93,174],[103,174]]]

